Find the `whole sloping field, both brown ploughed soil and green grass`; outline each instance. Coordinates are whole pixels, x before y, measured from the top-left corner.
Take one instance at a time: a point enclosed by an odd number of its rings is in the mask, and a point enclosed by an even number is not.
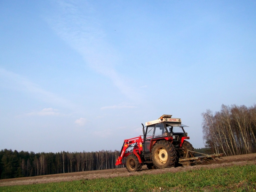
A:
[[[0,186],[9,186],[0,191],[255,191],[255,183],[256,154],[248,154],[186,168],[142,167],[133,173],[120,168],[0,180]]]

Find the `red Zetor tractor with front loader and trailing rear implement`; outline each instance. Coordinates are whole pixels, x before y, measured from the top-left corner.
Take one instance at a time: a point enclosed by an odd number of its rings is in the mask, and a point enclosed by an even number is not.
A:
[[[116,165],[125,164],[129,172],[135,172],[144,164],[148,169],[163,169],[179,164],[197,164],[222,155],[195,152],[186,141],[189,137],[184,127],[188,126],[181,124],[181,119],[171,117],[163,115],[157,120],[146,122],[146,130],[142,124],[143,138],[139,136],[124,140]]]

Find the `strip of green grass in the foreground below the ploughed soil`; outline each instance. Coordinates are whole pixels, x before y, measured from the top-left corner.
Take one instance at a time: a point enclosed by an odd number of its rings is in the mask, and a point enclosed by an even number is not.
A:
[[[161,188],[161,189],[160,189]],[[0,187],[0,191],[255,191],[256,165]]]

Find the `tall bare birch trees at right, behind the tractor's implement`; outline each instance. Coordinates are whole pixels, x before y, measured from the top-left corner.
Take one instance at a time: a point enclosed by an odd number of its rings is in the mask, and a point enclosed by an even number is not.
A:
[[[221,110],[202,113],[206,147],[225,156],[256,152],[256,105],[222,105]]]

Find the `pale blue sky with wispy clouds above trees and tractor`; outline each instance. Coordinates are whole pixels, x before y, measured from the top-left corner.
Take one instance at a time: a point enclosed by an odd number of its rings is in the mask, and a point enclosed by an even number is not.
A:
[[[163,114],[256,100],[255,1],[0,0],[0,150],[120,150]]]

